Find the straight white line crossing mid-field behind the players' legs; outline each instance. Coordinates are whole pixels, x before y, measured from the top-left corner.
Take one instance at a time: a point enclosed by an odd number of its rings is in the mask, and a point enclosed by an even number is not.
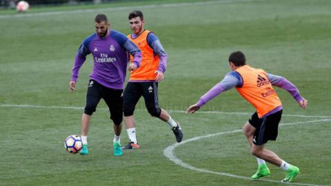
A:
[[[0,107],[28,107],[28,108],[42,108],[42,109],[60,109],[60,110],[83,110],[84,107],[74,106],[45,106],[45,105],[14,105],[14,104],[0,104]],[[108,110],[108,108],[98,108],[98,110]],[[143,111],[143,110],[138,110]],[[167,110],[174,113],[185,113],[183,110]],[[250,112],[221,112],[221,111],[198,111],[202,114],[228,114],[228,115],[252,115]],[[283,114],[283,116],[301,117],[301,118],[331,118],[331,116],[313,116],[313,115],[296,115]]]

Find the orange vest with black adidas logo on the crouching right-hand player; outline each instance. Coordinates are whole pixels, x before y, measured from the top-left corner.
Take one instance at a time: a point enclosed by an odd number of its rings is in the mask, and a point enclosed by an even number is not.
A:
[[[236,87],[237,91],[255,107],[259,118],[281,106],[281,100],[264,70],[243,65],[235,71],[243,78],[243,86]]]

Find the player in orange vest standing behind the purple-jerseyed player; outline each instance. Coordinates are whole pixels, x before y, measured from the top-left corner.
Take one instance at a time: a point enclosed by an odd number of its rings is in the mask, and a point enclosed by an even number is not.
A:
[[[181,142],[183,133],[179,123],[174,121],[168,112],[159,107],[157,98],[158,83],[164,78],[163,73],[165,72],[168,56],[157,36],[143,28],[145,21],[141,11],[130,12],[128,19],[132,30],[132,34],[128,35],[128,38],[139,47],[143,58],[141,67],[130,73],[130,80],[124,90],[124,121],[130,139],[128,145],[124,148],[140,147],[137,144],[136,122],[134,121],[133,112],[141,96],[145,99],[145,105],[150,115],[167,122],[172,132],[174,132],[177,142]],[[134,63],[134,59],[131,62]]]

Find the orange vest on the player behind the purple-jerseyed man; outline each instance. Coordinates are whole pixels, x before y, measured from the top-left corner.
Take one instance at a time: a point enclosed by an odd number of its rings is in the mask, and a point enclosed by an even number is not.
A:
[[[155,71],[159,68],[159,56],[154,55],[153,49],[147,43],[149,30],[143,31],[136,39],[132,39],[131,34],[128,38],[141,50],[142,59],[140,67],[130,74],[130,80],[154,80],[157,74]],[[130,56],[132,63],[133,57]]]

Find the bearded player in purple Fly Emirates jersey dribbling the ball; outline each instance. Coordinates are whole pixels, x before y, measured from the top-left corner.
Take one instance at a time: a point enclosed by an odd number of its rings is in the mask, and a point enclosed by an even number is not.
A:
[[[86,61],[88,54],[93,55],[94,65],[90,74],[88,91],[86,94],[86,106],[81,116],[81,140],[83,148],[80,154],[88,154],[88,128],[93,112],[102,98],[109,107],[110,118],[114,125],[114,155],[121,156],[120,145],[122,121],[123,121],[123,84],[126,79],[128,65],[128,53],[133,56],[129,70],[134,72],[141,63],[141,51],[126,35],[116,30],[110,30],[110,23],[106,15],[98,14],[94,19],[96,33],[83,40],[79,46],[74,66],[70,89],[76,90],[76,82],[79,69]]]

